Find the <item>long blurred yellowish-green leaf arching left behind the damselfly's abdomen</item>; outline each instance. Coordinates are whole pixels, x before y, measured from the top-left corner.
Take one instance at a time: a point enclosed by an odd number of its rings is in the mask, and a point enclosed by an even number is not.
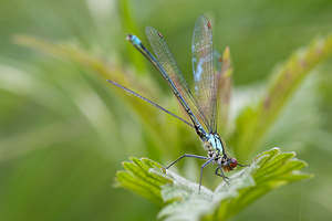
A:
[[[137,77],[133,77],[125,70],[122,70],[118,66],[113,65],[111,62],[95,56],[94,54],[90,54],[89,52],[73,44],[61,42],[54,43],[27,35],[15,35],[14,42],[40,50],[52,56],[73,61],[92,73],[98,75],[103,80],[111,78],[112,81],[125,85],[126,87],[134,88],[134,91],[138,94],[145,95],[145,88],[148,88],[151,93],[154,92],[155,94],[158,94],[158,90],[154,86],[155,84],[151,83],[147,85],[146,82],[143,82]],[[104,82],[105,84],[108,84],[106,81]],[[110,85],[110,88],[113,88],[113,93],[115,93],[117,97],[121,97],[122,101],[127,103],[129,106],[128,109],[134,109],[134,113],[138,114],[137,116],[139,117],[142,125],[148,130],[151,134],[149,137],[154,139],[155,144],[158,146],[165,145],[166,143],[162,140],[163,137],[158,135],[163,133],[160,130],[164,129],[156,120],[156,118],[158,118],[158,114],[160,114],[159,110],[157,108],[146,107],[145,102],[135,96],[128,95],[128,93],[124,93],[123,90],[115,88],[112,85]]]

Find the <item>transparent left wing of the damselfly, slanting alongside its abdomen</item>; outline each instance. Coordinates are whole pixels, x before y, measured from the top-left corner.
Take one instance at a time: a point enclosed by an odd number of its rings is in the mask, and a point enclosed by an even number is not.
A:
[[[146,35],[148,38],[148,41],[151,43],[151,46],[154,50],[155,55],[157,56],[157,60],[163,67],[163,70],[166,72],[167,76],[164,76],[165,80],[169,77],[170,82],[167,81],[168,84],[174,84],[177,91],[173,91],[173,93],[176,95],[176,97],[179,99],[176,93],[179,93],[179,95],[185,99],[188,107],[191,109],[195,117],[199,120],[201,125],[205,125],[207,129],[209,129],[209,124],[207,120],[207,117],[204,115],[204,112],[201,110],[199,104],[193,96],[186,80],[184,78],[184,75],[181,74],[166,41],[164,40],[163,35],[154,28],[147,27],[146,28]],[[172,85],[170,85],[172,88]],[[181,105],[185,107],[183,102],[179,99]],[[186,109],[186,107],[185,107]],[[188,112],[187,112],[188,113]],[[189,114],[189,113],[188,113]]]

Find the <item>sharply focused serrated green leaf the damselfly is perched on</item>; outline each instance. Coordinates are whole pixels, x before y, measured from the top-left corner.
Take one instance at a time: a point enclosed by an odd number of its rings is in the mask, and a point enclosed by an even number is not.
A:
[[[215,191],[205,187],[198,193],[198,183],[167,170],[149,159],[132,158],[124,162],[126,171],[117,173],[117,183],[137,194],[165,203],[160,219],[227,220],[269,191],[312,177],[300,172],[307,164],[295,159],[294,152],[272,148],[255,158],[252,165],[221,182]]]

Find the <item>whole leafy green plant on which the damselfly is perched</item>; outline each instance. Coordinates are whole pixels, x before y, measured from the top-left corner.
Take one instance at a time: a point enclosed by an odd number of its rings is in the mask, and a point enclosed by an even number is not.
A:
[[[134,85],[135,82],[138,93],[139,88],[144,88],[145,83],[123,75],[122,70],[110,69],[110,65],[103,60],[90,55],[76,46],[51,43],[29,36],[17,36],[15,41],[49,52],[52,55],[70,59],[103,78],[111,77],[125,85]],[[299,84],[311,73],[313,67],[331,54],[332,35],[314,40],[308,48],[295,52],[273,74],[266,96],[256,106],[245,107],[234,119],[236,127],[234,129],[229,129],[231,127],[221,128],[222,133],[228,136],[226,140],[237,157],[248,159],[248,156],[252,156],[259,149],[269,129],[280,116],[287,101],[291,98]],[[221,82],[228,82],[227,85],[229,85],[232,67],[228,50],[224,53],[224,64],[227,69],[220,71],[221,76],[225,77]],[[231,86],[226,88],[228,91],[220,92],[221,96],[225,96],[221,98],[221,106],[226,108],[221,109],[222,113],[226,113],[224,119],[227,118],[229,105],[227,95],[230,93]],[[156,88],[151,90],[157,92]],[[166,151],[163,150],[166,149],[163,147],[169,143],[184,146],[179,136],[168,136],[167,138],[158,136],[165,131],[165,128],[155,123],[151,113],[141,108],[141,105],[145,104],[124,95],[123,92],[120,92],[118,96],[122,96],[128,105],[134,107],[134,112],[149,131],[154,143],[160,145],[160,151]],[[154,110],[152,113],[158,115]],[[175,126],[175,133],[184,133],[181,127]],[[166,220],[226,220],[272,189],[311,177],[311,175],[299,172],[305,162],[293,159],[293,152],[280,154],[278,148],[262,152],[253,160],[250,168],[234,173],[229,186],[222,182],[215,191],[204,188],[201,194],[196,193],[197,183],[189,182],[173,172],[167,171],[167,175],[164,175],[159,171],[162,167],[149,159],[132,158],[133,162],[125,162],[124,167],[127,171],[117,173],[117,183],[164,206],[159,217]]]

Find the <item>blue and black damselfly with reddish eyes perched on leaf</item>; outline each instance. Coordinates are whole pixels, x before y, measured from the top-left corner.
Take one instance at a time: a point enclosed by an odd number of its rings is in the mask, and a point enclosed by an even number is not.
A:
[[[211,23],[205,17],[199,17],[195,23],[191,44],[195,95],[189,90],[187,82],[160,32],[152,27],[147,27],[145,31],[157,59],[143,45],[137,36],[127,34],[127,41],[129,41],[162,74],[172,92],[188,114],[191,123],[115,82],[110,80],[108,82],[195,128],[196,134],[199,136],[207,150],[207,157],[186,154],[172,162],[166,169],[170,168],[174,164],[185,157],[194,157],[206,160],[200,167],[199,191],[201,187],[203,169],[211,162],[218,165],[215,173],[222,177],[224,180],[228,182],[228,177],[225,176],[224,171],[230,171],[237,166],[245,167],[247,165],[240,165],[235,158],[229,158],[227,156],[225,144],[217,134],[217,91],[219,84],[215,73]]]

